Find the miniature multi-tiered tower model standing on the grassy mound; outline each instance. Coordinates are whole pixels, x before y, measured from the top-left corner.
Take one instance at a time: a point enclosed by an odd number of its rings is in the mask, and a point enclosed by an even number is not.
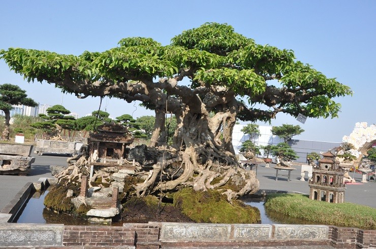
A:
[[[346,185],[343,183],[344,170],[339,167],[335,155],[331,152],[323,154],[319,166],[312,170],[312,180],[309,181],[309,199],[342,203]]]

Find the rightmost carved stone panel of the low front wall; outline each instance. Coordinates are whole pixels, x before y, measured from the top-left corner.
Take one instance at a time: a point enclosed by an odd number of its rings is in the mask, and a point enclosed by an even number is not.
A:
[[[327,240],[329,227],[325,225],[274,225],[274,238],[299,240]]]

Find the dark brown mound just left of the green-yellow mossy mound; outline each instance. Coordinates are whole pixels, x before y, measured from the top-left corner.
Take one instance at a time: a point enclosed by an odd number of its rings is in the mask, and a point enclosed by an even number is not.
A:
[[[146,197],[133,196],[123,203],[122,222],[147,223],[153,222],[192,222],[171,203],[164,203],[152,195]]]

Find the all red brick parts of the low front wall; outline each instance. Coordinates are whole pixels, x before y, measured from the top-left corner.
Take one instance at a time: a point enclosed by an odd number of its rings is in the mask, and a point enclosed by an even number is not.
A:
[[[63,245],[65,246],[134,246],[137,248],[159,248],[161,224],[126,224],[123,227],[111,226],[65,226]],[[361,230],[357,228],[343,228],[329,226],[329,241],[336,248],[367,248],[376,246],[376,230]],[[322,244],[328,243],[322,241]],[[255,241],[232,241],[231,245],[250,246]],[[295,245],[297,241],[258,241],[263,245]],[[300,241],[299,243],[320,244],[315,241]],[[193,242],[192,242],[193,243]],[[202,246],[204,242],[195,242],[192,246]],[[330,243],[330,242],[329,242]],[[181,246],[184,243],[170,243],[170,246]],[[226,243],[225,243],[226,244]],[[185,243],[186,245],[186,243]],[[215,242],[211,246],[220,246]],[[260,245],[260,244],[259,244]]]

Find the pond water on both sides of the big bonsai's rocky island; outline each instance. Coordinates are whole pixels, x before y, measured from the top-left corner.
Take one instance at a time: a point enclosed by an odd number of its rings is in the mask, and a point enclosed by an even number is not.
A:
[[[43,200],[48,190],[44,192],[36,192],[32,198],[30,198],[26,206],[24,207],[22,214],[14,222],[16,223],[37,223],[37,224],[64,224],[64,225],[78,225],[89,226],[93,225],[85,219],[80,219],[75,216],[67,214],[57,214],[52,210],[48,210],[43,205]],[[265,197],[260,196],[246,196],[241,200],[250,206],[257,207],[260,210],[261,224],[304,224],[312,225],[318,223],[312,223],[305,220],[291,218],[285,215],[277,214],[272,211],[267,211],[264,208]],[[137,221],[136,221],[137,222]],[[102,225],[102,224],[101,224]],[[106,224],[103,224],[106,225]],[[113,222],[107,224],[109,226],[122,226],[122,222]]]

